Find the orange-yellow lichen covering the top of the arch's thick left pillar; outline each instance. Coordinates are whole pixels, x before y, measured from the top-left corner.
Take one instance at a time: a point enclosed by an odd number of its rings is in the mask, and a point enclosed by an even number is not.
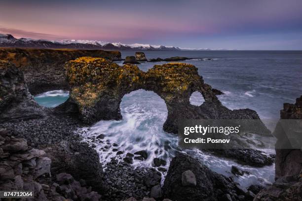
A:
[[[121,67],[104,58],[80,57],[67,62],[65,70],[71,98],[80,109],[93,106],[102,96],[118,97],[118,93],[133,90],[144,79],[144,72],[136,65]]]

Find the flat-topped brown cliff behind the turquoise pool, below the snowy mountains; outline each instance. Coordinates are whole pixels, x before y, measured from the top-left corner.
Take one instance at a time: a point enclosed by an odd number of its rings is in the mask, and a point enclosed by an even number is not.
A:
[[[9,61],[23,71],[32,95],[68,88],[64,75],[64,64],[83,56],[111,60],[121,58],[118,51],[0,48],[0,60]]]

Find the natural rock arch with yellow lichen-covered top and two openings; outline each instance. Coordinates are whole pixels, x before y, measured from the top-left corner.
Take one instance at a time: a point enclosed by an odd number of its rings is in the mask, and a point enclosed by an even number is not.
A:
[[[190,64],[155,65],[143,72],[136,65],[118,66],[103,58],[81,57],[66,63],[65,70],[71,87],[68,104],[76,105],[80,119],[88,124],[121,119],[122,97],[138,89],[153,91],[165,101],[168,117],[163,129],[168,133],[178,132],[180,119],[259,119],[254,110],[223,106]],[[195,91],[204,97],[200,106],[189,102]]]

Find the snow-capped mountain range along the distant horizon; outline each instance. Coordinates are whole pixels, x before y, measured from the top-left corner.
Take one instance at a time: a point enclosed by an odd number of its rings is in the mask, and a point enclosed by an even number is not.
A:
[[[98,40],[45,40],[32,38],[15,38],[11,34],[0,33],[0,47],[29,48],[71,48],[103,50],[181,50],[178,47],[150,44],[123,44]]]

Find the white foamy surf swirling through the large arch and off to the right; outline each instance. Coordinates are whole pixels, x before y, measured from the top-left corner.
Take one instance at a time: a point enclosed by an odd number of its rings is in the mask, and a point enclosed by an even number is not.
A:
[[[167,161],[164,167],[168,168],[176,152],[182,151],[200,159],[204,165],[226,176],[232,175],[231,166],[249,169],[250,175],[234,178],[242,187],[259,182],[265,185],[273,181],[273,166],[262,168],[242,166],[232,160],[219,158],[200,150],[180,150],[177,135],[162,130],[167,118],[167,108],[165,102],[153,92],[145,90],[131,92],[124,96],[120,108],[122,120],[100,121],[90,128],[80,129],[85,131],[82,134],[84,141],[95,145],[96,151],[100,153],[102,164],[107,164],[111,158],[122,160],[127,153],[133,154],[136,151],[146,150],[147,160],[133,160],[133,167],[152,167],[154,158],[162,158]],[[105,134],[104,139],[101,139],[102,142],[95,139],[99,134]],[[117,146],[113,146],[113,143]],[[117,151],[123,151],[123,154],[116,156]],[[162,174],[163,178],[165,174]]]

